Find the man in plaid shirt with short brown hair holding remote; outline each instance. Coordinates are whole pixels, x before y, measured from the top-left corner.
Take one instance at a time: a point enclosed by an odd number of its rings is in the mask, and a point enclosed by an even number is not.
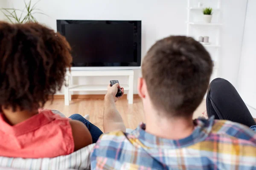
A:
[[[115,106],[120,86],[109,86],[103,118],[104,131],[109,133],[96,143],[91,168],[256,168],[253,130],[214,117],[192,120],[212,69],[209,53],[193,38],[171,36],[157,41],[143,59],[143,77],[138,80],[146,125],[124,133],[125,125]]]

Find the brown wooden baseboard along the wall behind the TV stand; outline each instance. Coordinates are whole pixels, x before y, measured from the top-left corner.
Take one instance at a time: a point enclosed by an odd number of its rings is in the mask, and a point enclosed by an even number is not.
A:
[[[73,94],[71,99],[104,99],[105,94]],[[134,94],[134,98],[138,98],[138,94]],[[124,94],[122,98],[127,98],[127,94]],[[53,96],[53,99],[64,99],[63,94],[56,94]]]

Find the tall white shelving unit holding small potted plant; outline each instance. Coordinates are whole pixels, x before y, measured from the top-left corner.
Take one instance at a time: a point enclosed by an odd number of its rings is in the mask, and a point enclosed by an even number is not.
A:
[[[221,33],[221,26],[222,23],[220,23],[220,18],[221,18],[221,0],[215,0],[212,1],[212,3],[217,3],[215,4],[215,8],[212,7],[213,10],[213,15],[218,14],[218,20],[215,20],[213,23],[204,23],[204,22],[198,22],[191,20],[193,14],[198,14],[198,12],[203,11],[204,8],[209,7],[208,5],[204,6],[204,0],[201,0],[201,3],[203,3],[203,7],[198,7],[196,4],[192,4],[193,0],[188,0],[187,4],[187,29],[186,29],[186,35],[187,36],[193,36],[191,33],[191,29],[197,29],[200,31],[200,29],[207,30],[207,28],[215,29],[216,31],[216,36],[215,37],[210,37],[210,42],[215,39],[215,42],[212,42],[210,44],[203,44],[208,50],[215,51],[215,55],[212,56],[213,62],[214,62],[214,71],[215,71],[215,77],[218,77],[218,65],[219,65],[219,57],[220,57],[220,33]],[[195,1],[194,1],[195,2]],[[208,1],[209,2],[209,1]],[[200,13],[201,15],[199,17],[203,18],[203,14]],[[210,30],[209,29],[209,30]],[[200,35],[200,36],[208,36],[206,35]],[[195,39],[198,39],[198,37],[194,37]]]

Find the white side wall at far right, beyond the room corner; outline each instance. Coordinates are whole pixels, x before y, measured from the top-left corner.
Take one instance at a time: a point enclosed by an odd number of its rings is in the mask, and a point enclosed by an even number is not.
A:
[[[256,108],[256,0],[248,0],[239,70],[239,93]],[[256,116],[256,115],[255,115]]]

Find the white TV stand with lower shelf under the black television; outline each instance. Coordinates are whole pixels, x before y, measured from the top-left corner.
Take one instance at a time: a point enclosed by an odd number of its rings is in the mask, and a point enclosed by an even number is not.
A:
[[[127,94],[127,99],[129,104],[133,104],[134,95],[134,71],[133,70],[95,70],[95,71],[78,71],[73,70],[71,72],[67,71],[66,82],[64,92],[65,105],[69,105],[71,101],[71,91],[107,91],[108,84],[106,85],[72,85],[72,77],[90,77],[90,76],[128,76],[128,85],[122,85]],[[108,82],[109,83],[109,82]]]

